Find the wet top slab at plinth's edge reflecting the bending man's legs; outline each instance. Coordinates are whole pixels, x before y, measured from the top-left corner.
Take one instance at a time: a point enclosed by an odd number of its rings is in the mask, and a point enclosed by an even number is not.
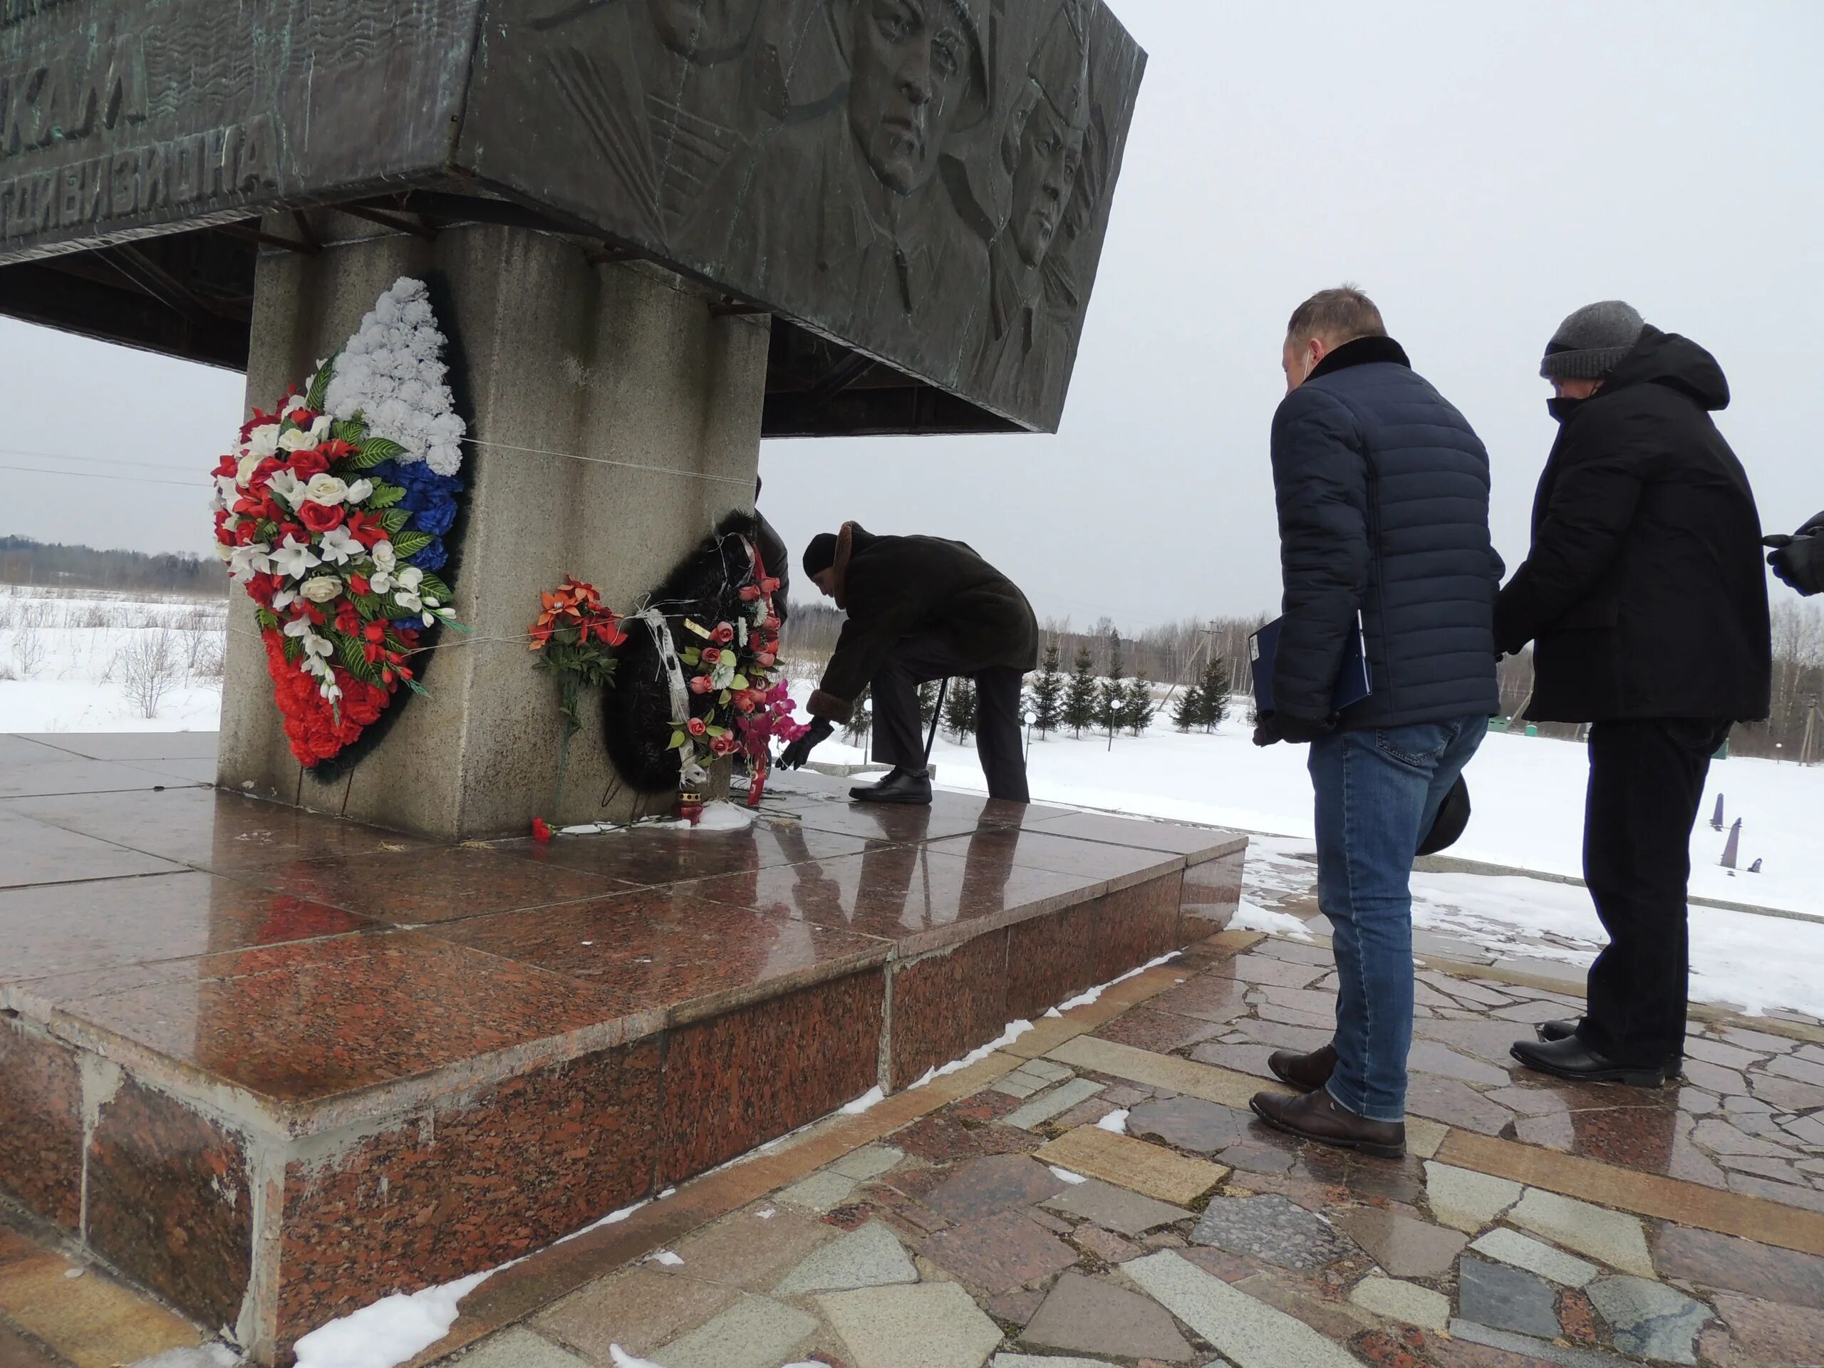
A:
[[[952,843],[945,843],[947,846]],[[950,945],[1087,899],[1096,881],[1021,868],[1005,846],[877,845],[865,855],[677,885],[719,903],[892,939],[901,956]]]

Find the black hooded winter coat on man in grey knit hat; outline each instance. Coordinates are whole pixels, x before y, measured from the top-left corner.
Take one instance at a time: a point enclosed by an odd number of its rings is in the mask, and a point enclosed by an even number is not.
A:
[[[1592,398],[1556,401],[1532,551],[1501,589],[1505,653],[1536,642],[1539,722],[1767,715],[1760,516],[1711,410],[1716,359],[1647,328]]]

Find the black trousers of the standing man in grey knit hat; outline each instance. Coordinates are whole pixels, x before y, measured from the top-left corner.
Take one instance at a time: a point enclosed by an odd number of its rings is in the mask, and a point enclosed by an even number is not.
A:
[[[1711,755],[1727,737],[1727,722],[1707,719],[1591,728],[1583,877],[1609,945],[1591,965],[1578,1036],[1616,1063],[1662,1067],[1684,1058],[1691,826]]]

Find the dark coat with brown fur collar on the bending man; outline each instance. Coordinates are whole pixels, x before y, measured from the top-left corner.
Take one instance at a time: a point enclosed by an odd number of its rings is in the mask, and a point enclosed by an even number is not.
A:
[[[806,711],[846,722],[855,699],[905,637],[936,633],[976,669],[1032,669],[1038,620],[1025,595],[961,542],[874,536],[843,523],[835,606],[848,611]]]

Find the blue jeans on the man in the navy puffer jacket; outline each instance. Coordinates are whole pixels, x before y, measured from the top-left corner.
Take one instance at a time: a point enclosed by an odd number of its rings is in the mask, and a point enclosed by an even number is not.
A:
[[[1317,905],[1337,956],[1330,1096],[1357,1116],[1406,1116],[1412,1049],[1412,861],[1470,762],[1487,717],[1333,731],[1311,742]]]

